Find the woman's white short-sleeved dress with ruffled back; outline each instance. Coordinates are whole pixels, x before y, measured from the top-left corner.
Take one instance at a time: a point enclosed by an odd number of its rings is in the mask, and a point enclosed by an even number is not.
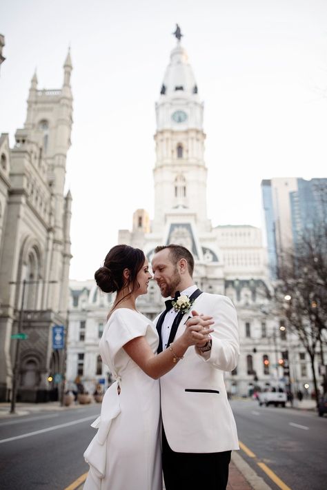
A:
[[[98,431],[84,453],[90,465],[84,490],[162,489],[159,380],[145,374],[123,349],[139,336],[157,352],[157,330],[146,316],[127,308],[111,314],[99,349],[116,381],[92,424]]]

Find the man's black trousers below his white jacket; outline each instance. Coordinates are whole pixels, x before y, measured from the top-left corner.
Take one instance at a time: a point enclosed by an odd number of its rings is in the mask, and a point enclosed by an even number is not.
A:
[[[166,490],[226,490],[232,451],[175,453],[162,427],[162,469]]]

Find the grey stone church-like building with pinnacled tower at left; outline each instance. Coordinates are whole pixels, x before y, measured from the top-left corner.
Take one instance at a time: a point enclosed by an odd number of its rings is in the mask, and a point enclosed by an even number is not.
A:
[[[62,372],[52,326],[66,325],[70,265],[70,192],[64,195],[72,128],[70,54],[59,90],[32,77],[23,129],[10,149],[0,137],[0,400],[10,398],[19,343],[18,400],[48,400]],[[12,339],[21,320],[26,340]]]

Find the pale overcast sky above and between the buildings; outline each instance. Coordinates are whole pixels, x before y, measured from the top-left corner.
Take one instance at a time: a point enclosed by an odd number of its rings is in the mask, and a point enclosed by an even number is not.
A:
[[[153,216],[155,101],[175,23],[205,104],[212,225],[261,227],[263,178],[327,176],[326,0],[1,0],[0,133],[71,46],[70,277],[92,278],[132,213]]]

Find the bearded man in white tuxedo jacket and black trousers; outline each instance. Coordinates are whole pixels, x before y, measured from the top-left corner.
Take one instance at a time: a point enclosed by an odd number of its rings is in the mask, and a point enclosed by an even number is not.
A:
[[[174,298],[177,293],[173,303],[186,295],[192,304],[188,312],[176,312],[171,300],[166,301],[166,310],[155,320],[158,352],[183,333],[192,312],[215,320],[211,340],[188,349],[175,369],[160,379],[164,480],[166,490],[224,490],[231,450],[239,449],[224,385],[224,371],[235,369],[239,356],[237,315],[226,296],[197,289],[193,269],[194,258],[185,247],[155,249],[152,271],[161,295]]]

